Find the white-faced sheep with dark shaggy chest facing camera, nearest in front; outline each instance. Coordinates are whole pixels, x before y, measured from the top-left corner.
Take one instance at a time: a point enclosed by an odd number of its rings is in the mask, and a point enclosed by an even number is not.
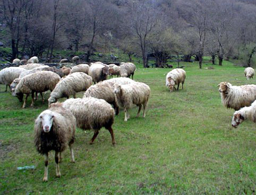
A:
[[[73,114],[59,105],[52,105],[42,112],[34,124],[34,144],[39,154],[45,156],[45,174],[42,181],[48,181],[49,151],[55,151],[56,177],[60,177],[61,153],[69,145],[71,162],[74,163],[72,145],[75,140],[76,119]]]

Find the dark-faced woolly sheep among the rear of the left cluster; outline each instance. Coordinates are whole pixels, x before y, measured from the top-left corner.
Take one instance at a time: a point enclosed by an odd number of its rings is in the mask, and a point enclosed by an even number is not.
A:
[[[88,74],[93,78],[94,83],[103,81],[108,77],[109,67],[104,64],[94,63],[89,68]]]

